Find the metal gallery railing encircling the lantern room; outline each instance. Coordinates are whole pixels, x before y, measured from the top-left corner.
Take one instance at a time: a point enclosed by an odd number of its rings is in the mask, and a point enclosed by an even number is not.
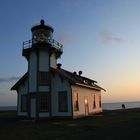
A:
[[[33,44],[35,43],[49,43],[52,45],[52,47],[60,50],[60,51],[63,51],[63,45],[60,44],[59,42],[57,42],[56,40],[54,39],[48,39],[46,41],[37,41],[37,40],[28,40],[28,41],[24,41],[23,42],[23,49],[28,49],[28,48],[31,48]]]

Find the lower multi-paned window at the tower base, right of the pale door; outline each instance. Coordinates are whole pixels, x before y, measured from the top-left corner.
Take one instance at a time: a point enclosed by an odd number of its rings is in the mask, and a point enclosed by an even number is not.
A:
[[[39,111],[48,112],[48,94],[39,95]]]

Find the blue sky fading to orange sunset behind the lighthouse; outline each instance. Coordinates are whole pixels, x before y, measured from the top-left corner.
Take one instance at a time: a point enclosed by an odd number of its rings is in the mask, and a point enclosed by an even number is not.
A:
[[[63,44],[58,61],[98,81],[103,102],[140,101],[140,0],[0,0],[0,106],[27,71],[23,41],[41,19]]]

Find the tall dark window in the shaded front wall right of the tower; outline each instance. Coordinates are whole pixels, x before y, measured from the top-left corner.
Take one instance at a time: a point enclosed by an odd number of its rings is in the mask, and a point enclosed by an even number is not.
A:
[[[68,111],[68,98],[67,98],[66,91],[62,91],[58,93],[58,109],[59,109],[59,112]]]

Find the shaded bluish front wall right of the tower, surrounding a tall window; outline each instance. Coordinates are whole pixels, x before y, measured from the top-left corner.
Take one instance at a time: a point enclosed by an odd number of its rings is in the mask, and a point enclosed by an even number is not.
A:
[[[58,111],[58,92],[67,91],[68,112]],[[71,116],[71,86],[67,80],[54,73],[52,75],[52,116]]]

